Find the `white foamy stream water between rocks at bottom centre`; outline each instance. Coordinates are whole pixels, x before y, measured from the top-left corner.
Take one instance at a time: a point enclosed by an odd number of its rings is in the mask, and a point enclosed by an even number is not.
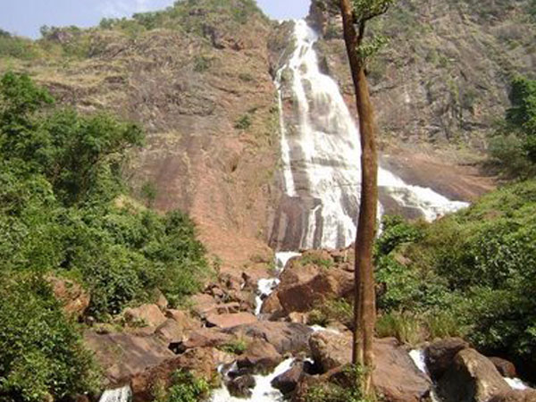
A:
[[[283,394],[279,389],[272,387],[272,380],[290,369],[294,359],[287,359],[278,365],[273,373],[268,375],[254,375],[255,388],[252,389],[251,398],[235,398],[223,384],[220,389],[216,389],[211,398],[211,402],[280,402]]]

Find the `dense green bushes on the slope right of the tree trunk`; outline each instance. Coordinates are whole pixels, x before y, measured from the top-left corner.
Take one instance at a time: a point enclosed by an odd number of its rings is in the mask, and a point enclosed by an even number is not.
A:
[[[399,237],[407,228],[388,227],[378,242],[411,238],[377,254],[382,314],[409,313],[431,336],[457,325],[483,350],[536,364],[536,180]]]

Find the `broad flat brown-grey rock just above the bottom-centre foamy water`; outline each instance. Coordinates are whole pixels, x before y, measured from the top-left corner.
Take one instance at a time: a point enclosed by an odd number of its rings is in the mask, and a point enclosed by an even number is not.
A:
[[[238,337],[264,339],[281,355],[284,355],[308,350],[309,337],[313,330],[300,323],[259,321],[239,325],[227,332]]]

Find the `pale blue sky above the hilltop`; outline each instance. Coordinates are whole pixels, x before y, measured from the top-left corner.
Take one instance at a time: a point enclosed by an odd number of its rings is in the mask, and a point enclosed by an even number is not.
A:
[[[104,17],[163,9],[174,0],[0,0],[0,28],[38,38],[43,25],[91,27]],[[275,20],[304,17],[310,0],[257,0]]]

